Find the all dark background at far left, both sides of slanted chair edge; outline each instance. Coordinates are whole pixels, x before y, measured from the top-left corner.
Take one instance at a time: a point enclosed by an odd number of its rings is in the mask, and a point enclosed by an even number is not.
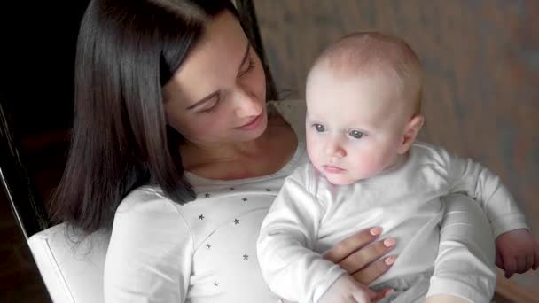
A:
[[[58,183],[65,162],[75,42],[87,3],[0,3],[0,102],[43,200]],[[0,235],[0,301],[51,302],[3,189]]]

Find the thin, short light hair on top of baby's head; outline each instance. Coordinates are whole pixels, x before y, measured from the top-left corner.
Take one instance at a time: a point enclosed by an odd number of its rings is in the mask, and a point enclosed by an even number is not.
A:
[[[411,93],[414,115],[421,113],[423,69],[416,53],[401,39],[377,32],[346,35],[316,59],[311,72],[323,64],[344,76],[389,76],[398,83],[399,92]]]

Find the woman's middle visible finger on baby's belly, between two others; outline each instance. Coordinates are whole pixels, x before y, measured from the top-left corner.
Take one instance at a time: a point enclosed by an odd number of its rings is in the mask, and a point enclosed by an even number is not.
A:
[[[350,254],[344,260],[341,260],[339,263],[340,268],[346,270],[348,274],[353,274],[370,264],[372,261],[378,260],[385,255],[394,247],[394,244],[394,239],[376,241],[373,244]]]

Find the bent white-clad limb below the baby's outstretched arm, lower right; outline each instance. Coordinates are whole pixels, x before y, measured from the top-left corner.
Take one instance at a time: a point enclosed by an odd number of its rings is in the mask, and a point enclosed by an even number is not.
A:
[[[443,197],[442,203],[446,213],[427,302],[451,295],[456,296],[454,299],[489,302],[496,287],[496,252],[487,217],[465,195]]]

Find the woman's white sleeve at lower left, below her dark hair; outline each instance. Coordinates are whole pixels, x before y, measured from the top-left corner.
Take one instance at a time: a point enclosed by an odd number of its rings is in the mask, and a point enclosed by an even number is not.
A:
[[[129,195],[114,216],[105,302],[184,302],[194,252],[191,230],[174,202],[141,196]]]

